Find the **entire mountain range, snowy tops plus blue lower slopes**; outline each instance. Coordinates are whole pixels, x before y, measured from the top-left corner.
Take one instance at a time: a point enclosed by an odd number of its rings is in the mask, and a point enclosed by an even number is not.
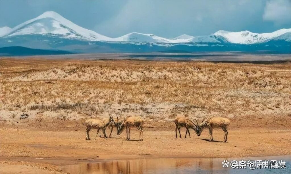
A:
[[[0,28],[0,47],[22,46],[73,52],[264,50],[291,54],[290,45],[291,29],[262,34],[219,30],[206,36],[183,34],[173,39],[133,32],[110,38],[80,27],[53,11],[45,12],[13,28]]]

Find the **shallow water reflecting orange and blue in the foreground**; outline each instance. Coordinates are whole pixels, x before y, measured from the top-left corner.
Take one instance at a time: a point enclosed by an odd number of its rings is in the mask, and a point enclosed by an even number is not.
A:
[[[285,169],[246,169],[222,167],[223,160],[282,160],[286,162]],[[275,157],[251,157],[251,158],[159,158],[159,159],[132,159],[116,160],[98,163],[83,163],[64,166],[63,171],[68,173],[162,173],[162,174],[184,174],[184,173],[291,173],[291,155]]]

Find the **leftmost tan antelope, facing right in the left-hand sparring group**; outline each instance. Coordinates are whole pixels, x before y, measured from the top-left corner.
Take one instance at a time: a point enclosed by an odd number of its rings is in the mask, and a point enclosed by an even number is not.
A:
[[[97,129],[97,134],[99,133],[99,130],[101,129],[104,135],[104,138],[106,139],[106,133],[105,133],[105,129],[107,128],[107,126],[109,126],[110,124],[113,123],[113,118],[111,116],[109,116],[109,120],[107,122],[104,122],[101,119],[87,119],[85,121],[85,125],[86,125],[86,140],[90,140],[89,137],[89,131],[91,129]]]

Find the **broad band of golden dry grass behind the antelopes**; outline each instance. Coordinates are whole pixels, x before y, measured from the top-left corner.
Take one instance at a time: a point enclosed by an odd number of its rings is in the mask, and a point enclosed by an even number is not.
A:
[[[0,109],[9,117],[23,111],[148,119],[291,116],[290,62],[0,59],[0,73]]]

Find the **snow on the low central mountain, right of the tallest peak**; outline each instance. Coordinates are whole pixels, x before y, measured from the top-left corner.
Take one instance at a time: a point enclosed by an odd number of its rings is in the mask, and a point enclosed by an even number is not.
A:
[[[118,38],[113,38],[111,41],[115,42],[147,42],[147,43],[186,43],[189,42],[187,39],[167,39],[159,37],[153,34],[143,33],[129,33]]]

